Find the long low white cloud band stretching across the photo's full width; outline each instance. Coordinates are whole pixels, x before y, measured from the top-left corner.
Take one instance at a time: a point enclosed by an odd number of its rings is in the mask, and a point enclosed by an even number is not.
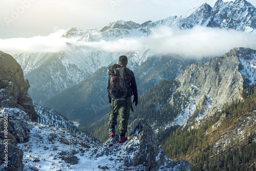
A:
[[[1,51],[6,53],[59,52],[66,50],[66,42],[86,49],[103,51],[139,51],[153,49],[159,54],[178,54],[190,58],[220,56],[232,48],[256,49],[256,34],[219,28],[196,26],[180,30],[165,26],[151,30],[148,37],[134,37],[116,41],[81,42],[75,38],[61,37],[64,30],[49,36],[0,39]]]

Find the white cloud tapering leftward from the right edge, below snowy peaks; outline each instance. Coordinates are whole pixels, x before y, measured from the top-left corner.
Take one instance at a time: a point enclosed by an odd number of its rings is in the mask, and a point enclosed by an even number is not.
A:
[[[256,34],[202,26],[187,30],[161,26],[152,29],[152,35],[148,37],[86,45],[105,51],[138,51],[150,48],[160,54],[200,58],[221,56],[238,47],[256,49]]]

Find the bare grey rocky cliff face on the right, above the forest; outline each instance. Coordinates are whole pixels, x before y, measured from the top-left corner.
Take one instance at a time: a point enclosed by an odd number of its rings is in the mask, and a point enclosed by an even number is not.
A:
[[[198,116],[193,119],[200,120],[205,115],[221,110],[226,104],[243,100],[243,86],[256,82],[255,61],[255,50],[234,48],[221,58],[190,65],[175,79],[180,82],[178,98],[189,97],[189,102],[186,102],[177,119],[184,119],[181,122],[183,125],[196,109]],[[172,97],[169,103],[173,105],[175,98]],[[187,109],[194,110],[187,113]]]

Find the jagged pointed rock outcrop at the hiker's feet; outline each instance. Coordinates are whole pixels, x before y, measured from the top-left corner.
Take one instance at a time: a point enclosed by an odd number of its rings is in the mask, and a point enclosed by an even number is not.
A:
[[[192,170],[186,160],[175,162],[164,154],[164,149],[156,139],[152,127],[146,119],[140,119],[134,132],[126,142],[119,143],[118,136],[106,141],[102,147],[91,149],[91,156],[100,158],[104,155],[115,156],[111,160],[122,161],[121,166],[115,166],[116,170]]]

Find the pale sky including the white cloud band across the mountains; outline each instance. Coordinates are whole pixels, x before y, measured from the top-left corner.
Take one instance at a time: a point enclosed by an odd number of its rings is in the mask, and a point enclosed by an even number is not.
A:
[[[58,52],[65,50],[66,42],[78,43],[75,39],[61,37],[73,27],[100,29],[117,20],[132,20],[138,24],[154,22],[180,16],[203,3],[213,7],[216,1],[0,0],[0,51],[10,54]],[[256,6],[256,1],[248,2]],[[152,48],[159,53],[192,57],[219,56],[234,47],[256,49],[256,34],[200,26],[189,30],[159,27],[152,31],[152,36],[146,38],[84,42],[84,45],[112,51]]]

